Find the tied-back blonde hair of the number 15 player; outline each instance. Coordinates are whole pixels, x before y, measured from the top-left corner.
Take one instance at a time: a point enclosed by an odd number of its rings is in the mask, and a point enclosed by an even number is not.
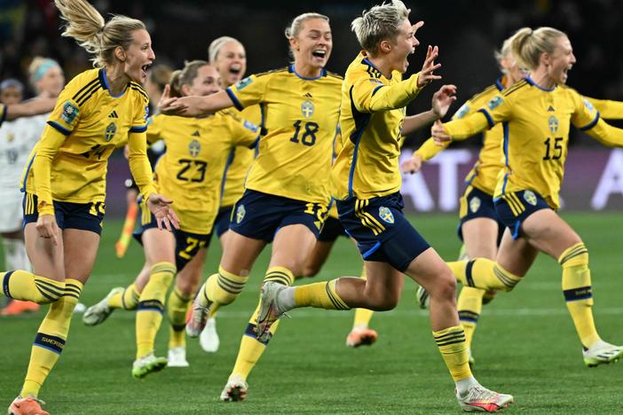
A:
[[[510,48],[519,66],[533,71],[539,67],[540,55],[552,53],[556,40],[562,36],[566,34],[553,27],[522,27],[510,38]]]

